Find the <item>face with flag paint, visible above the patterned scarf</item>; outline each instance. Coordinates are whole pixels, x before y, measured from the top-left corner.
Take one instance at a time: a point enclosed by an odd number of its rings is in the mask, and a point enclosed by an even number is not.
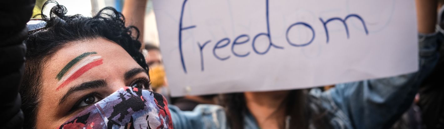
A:
[[[97,38],[67,43],[43,66],[38,129],[56,129],[124,86],[148,89],[148,74],[117,43]]]

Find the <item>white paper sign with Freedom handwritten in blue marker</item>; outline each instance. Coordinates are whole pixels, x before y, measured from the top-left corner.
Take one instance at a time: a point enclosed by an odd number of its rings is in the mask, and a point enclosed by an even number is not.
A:
[[[171,94],[291,90],[418,68],[412,0],[154,0]]]

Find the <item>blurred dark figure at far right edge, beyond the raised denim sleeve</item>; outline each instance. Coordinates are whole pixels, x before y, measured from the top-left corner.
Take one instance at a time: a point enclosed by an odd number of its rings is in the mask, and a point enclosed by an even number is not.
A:
[[[444,34],[444,0],[437,0],[437,11],[429,10],[428,15],[437,16],[436,32]],[[433,5],[429,5],[433,8]],[[424,17],[419,17],[424,18]],[[432,30],[432,27],[429,27]],[[438,38],[438,43],[443,43],[443,38]],[[440,55],[444,54],[444,46],[438,48]],[[408,112],[404,113],[392,129],[444,129],[444,58],[440,56],[432,73],[424,79],[415,102]]]

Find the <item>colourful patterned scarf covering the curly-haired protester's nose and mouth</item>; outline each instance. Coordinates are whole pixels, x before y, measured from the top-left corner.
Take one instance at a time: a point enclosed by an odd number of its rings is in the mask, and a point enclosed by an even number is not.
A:
[[[173,129],[161,94],[124,87],[71,117],[59,129]]]

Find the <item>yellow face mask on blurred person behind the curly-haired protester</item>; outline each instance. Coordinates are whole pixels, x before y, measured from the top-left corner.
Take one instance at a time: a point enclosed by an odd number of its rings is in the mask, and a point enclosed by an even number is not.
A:
[[[150,81],[152,89],[155,91],[157,88],[166,85],[165,81],[165,69],[162,65],[156,65],[150,67],[149,70]]]

